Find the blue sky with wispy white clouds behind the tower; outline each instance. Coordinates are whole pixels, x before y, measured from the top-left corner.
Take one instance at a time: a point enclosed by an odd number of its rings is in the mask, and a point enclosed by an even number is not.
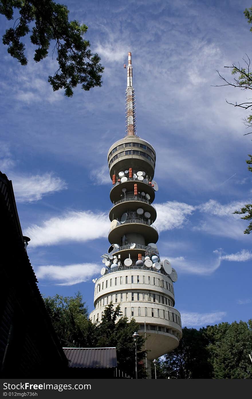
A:
[[[182,324],[251,317],[251,235],[239,215],[251,203],[248,94],[216,70],[250,53],[248,1],[64,1],[105,67],[103,85],[54,93],[50,57],[27,67],[0,45],[0,170],[12,180],[31,264],[45,295],[80,290],[93,310],[100,256],[109,243],[107,150],[125,134],[127,53],[132,52],[137,133],[157,153],[158,249],[178,272]],[[0,34],[10,23],[0,17]]]

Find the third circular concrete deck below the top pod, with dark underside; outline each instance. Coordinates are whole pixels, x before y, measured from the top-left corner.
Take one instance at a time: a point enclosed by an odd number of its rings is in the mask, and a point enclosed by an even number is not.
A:
[[[145,243],[156,243],[158,241],[158,231],[153,225],[142,219],[126,220],[124,223],[118,222],[115,227],[109,230],[108,240],[111,244],[121,241],[121,237],[127,233],[139,233],[145,238]]]

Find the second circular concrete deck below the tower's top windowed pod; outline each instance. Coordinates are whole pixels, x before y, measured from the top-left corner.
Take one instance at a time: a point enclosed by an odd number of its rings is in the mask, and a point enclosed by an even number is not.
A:
[[[156,209],[153,205],[151,205],[148,199],[137,198],[137,197],[129,197],[120,199],[114,203],[109,211],[109,219],[112,221],[113,219],[120,219],[123,213],[127,212],[128,209],[131,211],[137,211],[137,209],[143,209],[144,213],[150,213],[150,219],[152,222],[156,220]]]

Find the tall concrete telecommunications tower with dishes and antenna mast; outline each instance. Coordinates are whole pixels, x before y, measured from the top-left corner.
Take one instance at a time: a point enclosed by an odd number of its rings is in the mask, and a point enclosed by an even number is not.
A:
[[[124,65],[126,67],[126,65]],[[121,311],[139,323],[147,337],[147,368],[150,362],[175,349],[182,337],[180,313],[174,308],[173,282],[177,273],[165,259],[160,261],[153,225],[152,204],[158,184],[153,180],[156,152],[136,134],[135,92],[132,86],[131,53],[127,65],[126,135],[108,151],[112,180],[109,211],[111,244],[102,255],[104,267],[95,282],[93,322],[102,320],[105,306],[120,303]]]

